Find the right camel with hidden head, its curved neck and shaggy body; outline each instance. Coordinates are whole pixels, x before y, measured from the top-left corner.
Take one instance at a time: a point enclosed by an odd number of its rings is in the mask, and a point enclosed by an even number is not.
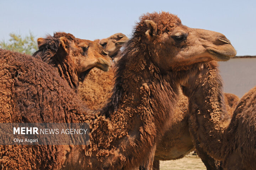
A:
[[[255,169],[256,87],[241,98],[230,120],[217,64],[211,62],[199,69],[183,87],[189,98],[194,144],[213,158],[223,160],[224,169]]]

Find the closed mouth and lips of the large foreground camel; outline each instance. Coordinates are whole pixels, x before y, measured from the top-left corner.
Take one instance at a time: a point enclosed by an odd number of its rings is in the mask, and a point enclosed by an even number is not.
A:
[[[232,48],[226,48],[225,50],[217,50],[214,48],[207,49],[211,54],[211,58],[215,61],[228,61],[231,57],[236,56],[236,50],[233,46]]]

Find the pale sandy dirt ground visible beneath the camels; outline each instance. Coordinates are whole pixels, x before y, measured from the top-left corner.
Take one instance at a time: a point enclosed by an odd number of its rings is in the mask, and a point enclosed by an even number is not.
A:
[[[206,170],[197,155],[188,154],[182,159],[160,161],[160,170]]]

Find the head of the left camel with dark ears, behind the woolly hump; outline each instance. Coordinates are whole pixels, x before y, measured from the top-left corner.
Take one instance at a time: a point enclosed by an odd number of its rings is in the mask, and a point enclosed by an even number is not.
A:
[[[103,47],[90,40],[75,38],[72,34],[54,33],[54,36],[38,38],[38,51],[48,50],[47,63],[75,67],[78,76],[87,74],[93,67],[107,71],[111,66],[111,59]],[[65,65],[67,65],[65,64]],[[66,67],[66,66],[64,66]]]

